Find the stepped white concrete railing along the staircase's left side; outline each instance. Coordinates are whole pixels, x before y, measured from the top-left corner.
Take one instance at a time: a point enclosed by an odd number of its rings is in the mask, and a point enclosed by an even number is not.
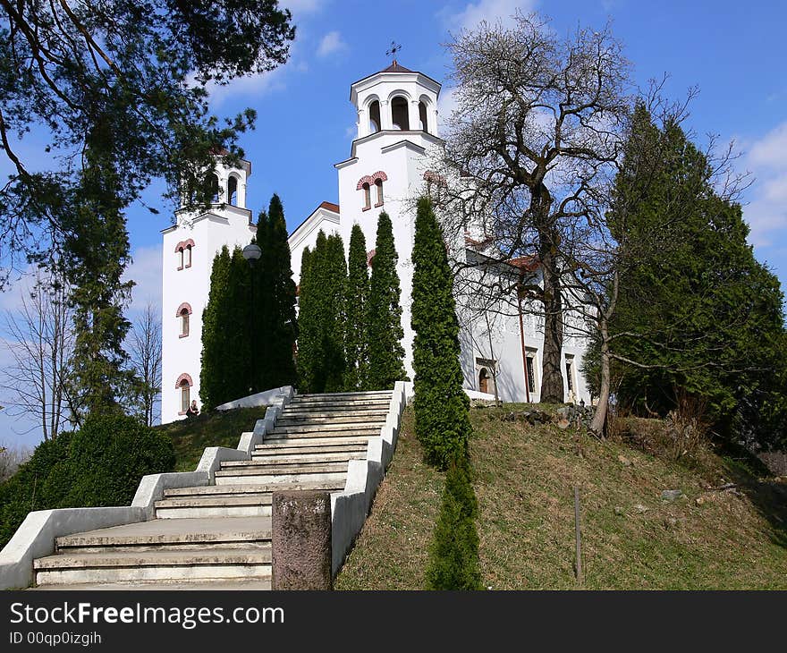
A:
[[[284,406],[292,400],[294,390],[292,386],[284,386],[251,396],[257,397],[260,394],[270,398],[265,418],[257,420],[252,432],[241,435],[237,448],[208,446],[202,453],[196,471],[167,472],[142,477],[131,505],[57,508],[29,513],[12,539],[0,551],[0,589],[28,587],[33,578],[33,560],[55,553],[55,539],[86,530],[151,520],[156,516],[156,502],[164,498],[165,489],[210,485],[222,462],[250,460],[254,446],[261,444],[265,434],[273,430]],[[238,400],[238,403],[245,399],[248,397]]]

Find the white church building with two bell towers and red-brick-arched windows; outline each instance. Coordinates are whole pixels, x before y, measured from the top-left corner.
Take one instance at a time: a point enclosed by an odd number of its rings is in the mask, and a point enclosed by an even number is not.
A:
[[[360,225],[369,248],[374,247],[377,217],[385,211],[393,223],[402,287],[402,328],[405,369],[412,370],[413,332],[410,328],[411,253],[415,235],[414,201],[427,188],[429,161],[442,147],[437,128],[437,98],[441,85],[421,72],[395,61],[351,85],[350,100],[358,112],[358,134],[350,157],[334,165],[339,203],[323,201],[291,233],[292,272],[300,279],[300,259],[314,248],[317,233],[338,233],[349,249],[352,226]],[[202,311],[207,305],[210,272],[216,252],[249,244],[256,228],[246,208],[251,164],[216,166],[216,204],[207,212],[176,213],[175,224],[163,233],[164,274],[162,307],[162,422],[185,414],[190,401],[199,402]],[[286,198],[283,198],[286,201]],[[468,234],[470,236],[470,234]],[[461,243],[468,257],[478,256],[478,243]],[[368,252],[369,258],[374,251]],[[514,265],[527,262],[512,261]],[[537,270],[534,271],[537,274]],[[468,390],[496,391],[505,402],[539,400],[543,331],[529,313],[495,314],[484,318],[458,310],[461,322],[461,367]],[[563,388],[566,401],[590,397],[580,374],[584,340],[567,335],[563,343]]]

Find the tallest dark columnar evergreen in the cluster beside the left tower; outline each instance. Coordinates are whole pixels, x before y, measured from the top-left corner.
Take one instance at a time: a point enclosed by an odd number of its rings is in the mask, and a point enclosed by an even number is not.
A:
[[[290,245],[284,209],[278,195],[270,200],[267,214],[260,214],[257,242],[262,256],[255,268],[254,349],[258,391],[295,384],[293,347],[298,332],[295,315],[295,282],[292,280]]]

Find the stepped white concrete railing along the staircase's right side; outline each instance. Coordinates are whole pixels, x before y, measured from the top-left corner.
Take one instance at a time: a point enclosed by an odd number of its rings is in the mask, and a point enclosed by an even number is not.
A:
[[[407,402],[407,386],[397,381],[393,386],[393,396],[388,406],[385,424],[380,435],[370,437],[366,460],[353,460],[347,469],[347,483],[343,492],[331,495],[331,547],[332,573],[334,576],[341,568],[344,557],[349,553],[352,543],[363,528],[372,501],[377,494],[385,469],[393,458],[396,439],[402,427],[402,413]]]

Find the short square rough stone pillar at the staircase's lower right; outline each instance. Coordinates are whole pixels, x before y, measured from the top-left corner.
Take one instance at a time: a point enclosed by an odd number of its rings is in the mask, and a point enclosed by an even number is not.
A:
[[[333,589],[331,495],[274,492],[271,589]]]

